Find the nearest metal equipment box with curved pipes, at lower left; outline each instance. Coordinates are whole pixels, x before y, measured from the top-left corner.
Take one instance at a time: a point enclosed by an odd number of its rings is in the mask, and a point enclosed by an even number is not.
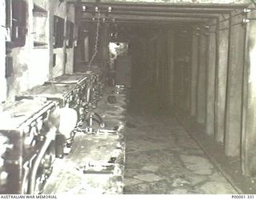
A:
[[[31,194],[51,174],[55,132],[50,115],[56,102],[22,100],[0,114],[0,194]]]

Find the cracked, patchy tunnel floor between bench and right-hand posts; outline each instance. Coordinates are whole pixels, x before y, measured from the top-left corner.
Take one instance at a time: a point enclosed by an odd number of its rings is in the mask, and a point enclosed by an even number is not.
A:
[[[237,194],[158,98],[131,98],[124,194]]]

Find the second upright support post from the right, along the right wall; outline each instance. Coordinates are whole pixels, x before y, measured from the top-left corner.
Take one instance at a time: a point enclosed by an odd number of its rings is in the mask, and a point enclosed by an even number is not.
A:
[[[241,12],[241,10],[238,10]],[[240,155],[242,128],[242,74],[244,64],[245,27],[242,15],[230,18],[230,54],[226,89],[225,153]],[[237,25],[238,24],[238,25]]]

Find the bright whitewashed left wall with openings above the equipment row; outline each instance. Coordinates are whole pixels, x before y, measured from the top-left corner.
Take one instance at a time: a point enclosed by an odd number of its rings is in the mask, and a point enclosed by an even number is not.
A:
[[[3,9],[2,1],[0,9]],[[42,9],[49,10],[46,14],[34,14],[34,4]],[[1,94],[0,100],[14,100],[15,94],[28,90],[33,86],[41,85],[50,78],[64,74],[64,65],[66,64],[66,73],[73,72],[74,47],[67,49],[53,48],[53,16],[54,14],[66,18],[66,2],[59,4],[58,1],[50,0],[26,0],[26,44],[22,47],[12,49],[9,57],[13,58],[13,73],[5,78],[5,58],[1,60]],[[0,10],[1,11],[1,10]],[[5,10],[0,12],[1,24],[5,26]],[[70,6],[67,18],[74,22],[74,6]],[[41,17],[40,17],[41,16]],[[38,36],[36,36],[36,34]],[[45,46],[34,46],[37,37],[43,37]],[[0,30],[1,46],[5,46],[5,29]],[[3,45],[4,44],[4,45]],[[67,53],[67,62],[64,63],[64,55]],[[56,54],[56,66],[52,66],[53,54]],[[5,57],[5,49],[1,48],[0,55]],[[7,84],[7,86],[6,86]]]

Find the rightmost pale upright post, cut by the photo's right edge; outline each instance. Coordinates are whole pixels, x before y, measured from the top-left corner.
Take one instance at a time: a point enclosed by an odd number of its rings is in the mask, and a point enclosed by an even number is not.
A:
[[[256,6],[254,6],[255,9]],[[256,18],[256,10],[247,18]],[[245,70],[242,103],[242,174],[256,175],[256,21],[246,26]]]

